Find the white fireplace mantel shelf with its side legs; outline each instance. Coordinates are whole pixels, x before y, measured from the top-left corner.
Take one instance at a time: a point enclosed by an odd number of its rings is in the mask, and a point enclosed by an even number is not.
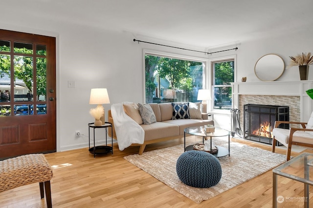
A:
[[[281,95],[300,97],[300,121],[308,121],[313,111],[313,100],[306,94],[307,90],[313,89],[313,80],[233,82],[231,85],[233,108],[240,109],[240,95]]]

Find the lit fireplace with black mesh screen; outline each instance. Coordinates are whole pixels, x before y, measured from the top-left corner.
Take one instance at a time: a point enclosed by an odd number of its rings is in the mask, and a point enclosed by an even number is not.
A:
[[[289,121],[289,106],[244,105],[244,138],[271,144],[276,120]],[[280,124],[279,128],[289,129],[289,124]]]

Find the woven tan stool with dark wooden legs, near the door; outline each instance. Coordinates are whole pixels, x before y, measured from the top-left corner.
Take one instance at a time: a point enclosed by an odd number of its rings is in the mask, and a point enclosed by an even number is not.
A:
[[[27,154],[3,160],[0,161],[0,192],[38,182],[41,198],[46,197],[47,207],[52,208],[52,175],[52,168],[43,154]]]

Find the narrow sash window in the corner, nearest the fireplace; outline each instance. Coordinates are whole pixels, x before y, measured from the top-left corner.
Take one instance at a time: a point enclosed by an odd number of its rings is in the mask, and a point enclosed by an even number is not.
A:
[[[231,85],[234,81],[234,59],[213,61],[212,88],[214,89],[214,109],[229,111],[232,108]]]

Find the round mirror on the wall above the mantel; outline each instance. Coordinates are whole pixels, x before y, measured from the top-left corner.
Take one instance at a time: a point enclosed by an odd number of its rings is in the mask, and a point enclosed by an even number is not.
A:
[[[261,57],[255,64],[254,73],[262,81],[274,81],[285,70],[284,60],[275,54]]]

